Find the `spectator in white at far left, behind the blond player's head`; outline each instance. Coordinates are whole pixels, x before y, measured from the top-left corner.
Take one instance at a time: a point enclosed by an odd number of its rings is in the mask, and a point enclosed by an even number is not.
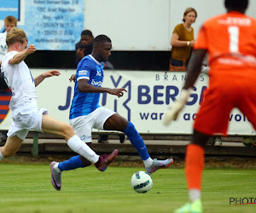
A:
[[[4,21],[5,32],[0,33],[0,65],[1,65],[3,55],[7,54],[6,35],[7,33],[9,33],[11,28],[17,26],[17,22],[18,22],[18,20],[12,15],[5,17],[3,21]]]

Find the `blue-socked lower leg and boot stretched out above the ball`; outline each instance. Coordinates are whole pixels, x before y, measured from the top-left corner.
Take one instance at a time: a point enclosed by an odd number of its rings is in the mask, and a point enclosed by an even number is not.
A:
[[[124,133],[128,136],[132,146],[137,149],[137,152],[143,159],[143,163],[145,164],[146,170],[149,174],[152,174],[159,169],[166,169],[173,163],[172,158],[168,158],[166,160],[153,160],[150,158],[143,138],[138,134],[137,130],[135,129],[134,125],[131,124],[131,122],[127,124]]]

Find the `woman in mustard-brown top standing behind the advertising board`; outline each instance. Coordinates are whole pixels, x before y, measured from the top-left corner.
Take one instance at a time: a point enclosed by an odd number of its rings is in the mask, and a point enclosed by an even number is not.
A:
[[[195,43],[192,24],[197,17],[196,10],[188,8],[183,15],[183,23],[175,26],[172,32],[172,56],[170,71],[185,71],[189,64],[192,47]]]

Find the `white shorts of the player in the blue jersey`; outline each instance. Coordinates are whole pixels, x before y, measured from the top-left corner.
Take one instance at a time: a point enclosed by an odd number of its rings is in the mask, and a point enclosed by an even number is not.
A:
[[[103,126],[106,120],[116,112],[109,109],[98,107],[95,111],[90,112],[89,115],[79,116],[69,120],[73,126],[73,130],[79,138],[88,143],[91,142],[91,131],[93,128],[97,130],[104,130]]]

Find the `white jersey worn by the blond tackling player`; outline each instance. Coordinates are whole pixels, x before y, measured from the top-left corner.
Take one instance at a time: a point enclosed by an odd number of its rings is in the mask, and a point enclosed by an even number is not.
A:
[[[35,83],[28,66],[24,61],[19,64],[10,65],[11,60],[19,52],[11,51],[3,56],[1,72],[5,82],[12,91],[12,98],[9,108],[15,109],[32,109],[38,108]]]

